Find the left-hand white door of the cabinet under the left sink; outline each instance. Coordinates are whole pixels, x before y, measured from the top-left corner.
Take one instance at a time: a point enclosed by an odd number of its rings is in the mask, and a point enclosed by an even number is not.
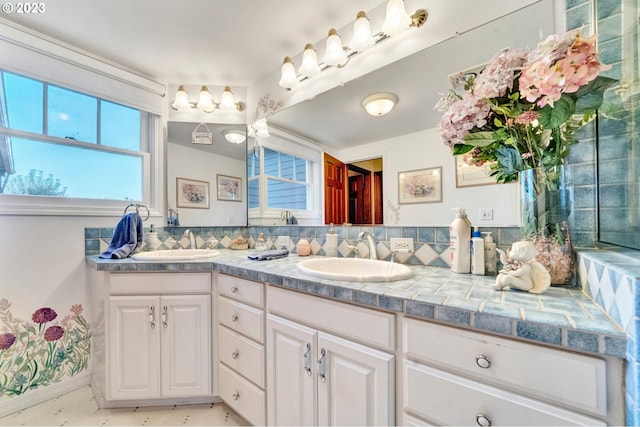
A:
[[[159,298],[109,297],[107,399],[160,397]]]

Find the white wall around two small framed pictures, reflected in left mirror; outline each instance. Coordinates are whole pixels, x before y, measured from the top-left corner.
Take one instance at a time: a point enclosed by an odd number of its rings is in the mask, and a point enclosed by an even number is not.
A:
[[[167,159],[167,204],[170,207],[176,209],[176,177],[209,182],[209,209],[177,208],[180,225],[247,225],[247,195],[242,194],[240,202],[218,200],[216,189],[216,175],[221,174],[241,178],[241,188],[246,190],[244,160],[173,143],[167,144]]]

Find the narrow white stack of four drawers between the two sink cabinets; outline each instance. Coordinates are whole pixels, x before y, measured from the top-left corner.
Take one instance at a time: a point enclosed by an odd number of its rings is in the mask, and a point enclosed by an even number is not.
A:
[[[264,285],[216,277],[220,397],[251,424],[265,425]]]

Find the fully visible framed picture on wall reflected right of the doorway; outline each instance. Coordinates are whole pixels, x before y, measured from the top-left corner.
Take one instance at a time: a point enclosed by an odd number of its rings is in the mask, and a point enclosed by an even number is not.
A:
[[[442,202],[442,166],[398,172],[398,204]]]

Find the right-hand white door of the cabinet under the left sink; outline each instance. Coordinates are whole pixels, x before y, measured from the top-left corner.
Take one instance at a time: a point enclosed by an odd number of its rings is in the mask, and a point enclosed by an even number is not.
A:
[[[165,296],[162,324],[162,396],[211,394],[211,296]]]

